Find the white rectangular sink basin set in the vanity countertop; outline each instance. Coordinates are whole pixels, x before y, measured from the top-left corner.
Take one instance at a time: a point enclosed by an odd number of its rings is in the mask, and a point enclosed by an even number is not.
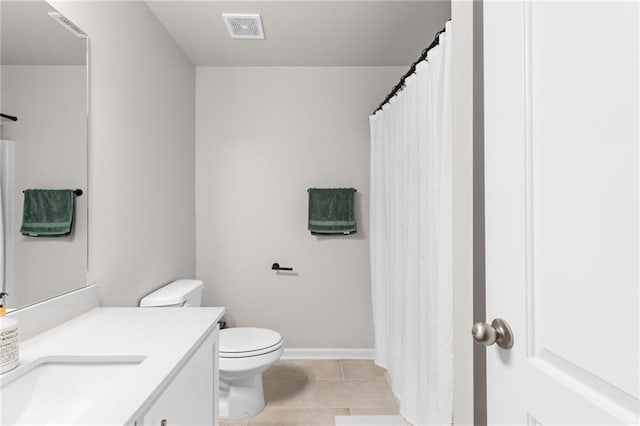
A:
[[[121,385],[141,356],[44,357],[0,378],[0,424],[69,425]]]

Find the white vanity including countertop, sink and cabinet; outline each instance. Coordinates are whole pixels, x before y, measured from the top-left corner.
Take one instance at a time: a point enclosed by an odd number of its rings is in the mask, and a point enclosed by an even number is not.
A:
[[[94,308],[20,344],[0,424],[217,425],[224,308]]]

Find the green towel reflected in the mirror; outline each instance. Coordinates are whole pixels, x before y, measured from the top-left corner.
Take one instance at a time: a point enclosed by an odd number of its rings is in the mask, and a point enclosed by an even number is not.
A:
[[[69,235],[73,202],[71,189],[27,189],[20,233],[29,237]]]

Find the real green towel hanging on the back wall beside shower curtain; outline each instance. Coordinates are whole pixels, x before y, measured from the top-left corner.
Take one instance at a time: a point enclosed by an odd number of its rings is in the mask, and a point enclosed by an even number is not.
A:
[[[312,234],[356,232],[353,188],[309,188],[309,231]]]

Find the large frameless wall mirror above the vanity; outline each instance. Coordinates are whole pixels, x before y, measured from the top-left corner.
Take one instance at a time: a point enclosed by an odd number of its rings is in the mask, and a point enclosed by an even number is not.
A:
[[[0,21],[0,275],[17,309],[86,285],[88,39],[42,0],[2,0]],[[71,233],[21,235],[25,189],[81,189]]]

